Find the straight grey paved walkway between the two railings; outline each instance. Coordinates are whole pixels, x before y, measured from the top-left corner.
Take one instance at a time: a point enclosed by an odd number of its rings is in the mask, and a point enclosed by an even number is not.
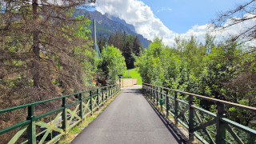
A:
[[[106,110],[78,134],[73,144],[182,143],[138,90],[122,89]]]

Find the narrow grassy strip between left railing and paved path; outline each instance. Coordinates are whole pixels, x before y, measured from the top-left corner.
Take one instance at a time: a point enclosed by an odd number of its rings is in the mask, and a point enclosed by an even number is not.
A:
[[[121,91],[118,92],[118,94],[120,94],[120,93],[121,93]],[[74,128],[72,128],[68,134],[63,136],[58,141],[58,143],[59,144],[70,143],[79,133],[82,132],[83,129],[85,129],[87,126],[89,126],[90,122],[93,122],[94,119],[97,118],[98,115],[101,114],[106,109],[106,106],[108,106],[110,104],[110,102],[114,101],[114,98],[117,97],[118,94],[115,94],[113,98],[110,98],[109,100],[107,100],[105,102],[105,104],[100,107],[100,109],[98,111],[95,111],[94,114],[92,114],[91,116],[87,116],[83,122],[80,122],[78,124],[78,126],[74,126]]]

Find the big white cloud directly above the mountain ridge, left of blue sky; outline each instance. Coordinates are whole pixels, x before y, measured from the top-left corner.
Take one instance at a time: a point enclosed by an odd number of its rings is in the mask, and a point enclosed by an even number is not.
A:
[[[134,25],[138,34],[142,34],[150,40],[153,40],[155,36],[165,38],[173,34],[159,18],[155,17],[150,6],[141,1],[97,0],[96,6],[96,9],[102,14],[113,14],[124,19],[128,24]]]

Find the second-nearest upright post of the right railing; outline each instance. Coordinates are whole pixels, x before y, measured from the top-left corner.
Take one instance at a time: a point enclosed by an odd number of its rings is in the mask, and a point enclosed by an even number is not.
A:
[[[194,134],[193,134],[193,129],[194,129],[194,100],[193,100],[193,95],[190,95],[190,101],[189,101],[189,105],[190,105],[190,111],[189,111],[189,139],[190,142],[194,141]]]

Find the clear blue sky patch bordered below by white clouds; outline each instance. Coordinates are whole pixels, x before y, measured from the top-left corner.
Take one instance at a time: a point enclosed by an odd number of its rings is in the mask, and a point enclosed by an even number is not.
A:
[[[186,33],[194,25],[205,25],[219,11],[234,8],[244,0],[142,0],[157,18],[175,33]]]

